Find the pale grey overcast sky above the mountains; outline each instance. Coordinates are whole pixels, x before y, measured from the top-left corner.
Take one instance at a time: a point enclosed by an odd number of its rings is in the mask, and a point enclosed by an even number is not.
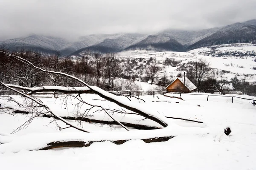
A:
[[[256,19],[256,0],[0,0],[0,40],[201,29]]]

